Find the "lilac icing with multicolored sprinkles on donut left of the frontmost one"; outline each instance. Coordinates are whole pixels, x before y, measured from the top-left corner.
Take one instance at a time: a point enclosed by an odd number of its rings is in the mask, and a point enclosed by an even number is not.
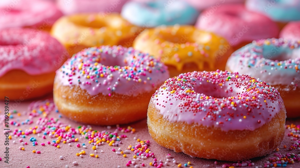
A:
[[[63,85],[79,85],[90,95],[130,94],[155,90],[169,78],[167,67],[132,47],[91,47],[73,55],[57,70]]]

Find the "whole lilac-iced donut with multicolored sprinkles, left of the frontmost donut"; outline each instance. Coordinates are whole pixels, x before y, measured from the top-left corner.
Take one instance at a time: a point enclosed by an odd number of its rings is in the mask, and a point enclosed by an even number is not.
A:
[[[146,118],[152,94],[168,78],[164,64],[132,47],[91,47],[57,70],[53,100],[78,122],[126,124]]]

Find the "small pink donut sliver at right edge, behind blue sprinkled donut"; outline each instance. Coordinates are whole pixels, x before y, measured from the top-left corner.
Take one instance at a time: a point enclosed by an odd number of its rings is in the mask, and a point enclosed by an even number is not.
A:
[[[289,22],[281,30],[279,37],[299,41],[300,40],[300,21]]]

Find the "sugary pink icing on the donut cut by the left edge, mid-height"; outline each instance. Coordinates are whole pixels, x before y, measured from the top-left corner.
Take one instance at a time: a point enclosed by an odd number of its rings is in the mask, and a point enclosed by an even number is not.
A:
[[[55,71],[68,52],[47,32],[13,28],[0,30],[0,76],[14,69],[30,75]]]

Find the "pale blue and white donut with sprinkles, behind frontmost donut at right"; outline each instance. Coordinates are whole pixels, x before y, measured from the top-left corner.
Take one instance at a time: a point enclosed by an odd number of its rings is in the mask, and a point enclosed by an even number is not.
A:
[[[286,115],[299,117],[300,41],[262,39],[235,51],[226,70],[259,78],[275,87],[283,98]]]

